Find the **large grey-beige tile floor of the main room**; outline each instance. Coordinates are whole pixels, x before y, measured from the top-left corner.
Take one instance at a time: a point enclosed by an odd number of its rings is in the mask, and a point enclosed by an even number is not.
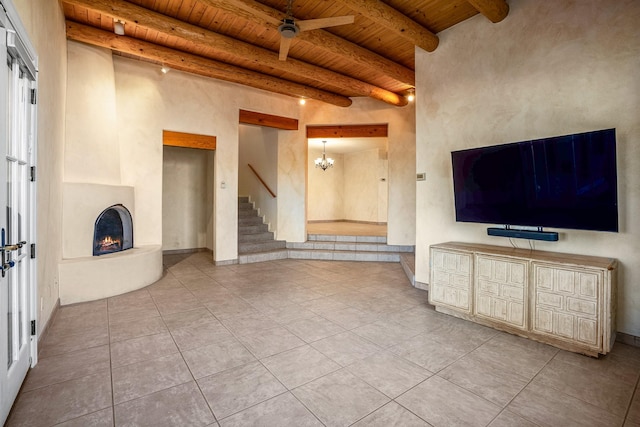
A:
[[[165,260],[60,308],[9,426],[640,426],[640,348],[591,359],[441,315],[399,264]]]

